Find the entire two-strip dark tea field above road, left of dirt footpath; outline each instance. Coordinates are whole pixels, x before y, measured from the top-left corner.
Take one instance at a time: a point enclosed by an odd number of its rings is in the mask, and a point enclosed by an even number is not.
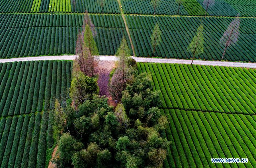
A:
[[[0,14],[0,57],[73,55],[83,17],[83,14]],[[114,55],[122,37],[128,39],[122,17],[91,15],[91,20],[99,54]]]

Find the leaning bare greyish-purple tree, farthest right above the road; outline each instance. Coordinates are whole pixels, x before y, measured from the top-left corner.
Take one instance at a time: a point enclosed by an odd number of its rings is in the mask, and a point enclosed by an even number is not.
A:
[[[237,15],[237,17],[229,24],[223,36],[220,38],[220,43],[222,47],[224,47],[224,52],[221,60],[224,58],[224,55],[228,47],[230,47],[231,45],[234,45],[237,42],[239,37],[239,26],[240,26],[240,19],[239,19],[239,16]]]

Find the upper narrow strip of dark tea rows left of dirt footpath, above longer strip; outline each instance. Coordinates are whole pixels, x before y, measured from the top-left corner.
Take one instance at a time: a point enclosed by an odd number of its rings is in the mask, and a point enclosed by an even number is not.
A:
[[[89,15],[95,27],[125,28],[121,15]],[[0,28],[83,26],[84,14],[0,14]]]

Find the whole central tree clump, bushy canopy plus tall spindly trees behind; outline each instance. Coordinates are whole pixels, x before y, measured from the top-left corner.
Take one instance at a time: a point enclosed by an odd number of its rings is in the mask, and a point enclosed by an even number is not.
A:
[[[83,71],[87,65],[83,60],[94,53],[95,45],[84,41],[81,38],[81,44],[77,43],[79,58],[73,64],[73,103],[63,106],[56,100],[49,115],[58,142],[52,161],[58,168],[162,167],[171,142],[161,137],[168,121],[158,109],[159,91],[153,91],[146,73],[138,73],[123,38],[116,53],[118,66],[109,82],[110,94],[120,103],[109,106],[106,96],[97,95],[96,74],[89,77]]]

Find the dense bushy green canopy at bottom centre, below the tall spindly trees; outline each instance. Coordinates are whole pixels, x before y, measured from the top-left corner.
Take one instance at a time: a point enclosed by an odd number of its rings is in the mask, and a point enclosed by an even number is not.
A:
[[[54,159],[58,167],[162,166],[170,142],[160,136],[168,122],[157,108],[159,93],[146,74],[137,74],[132,81],[123,92],[123,104],[115,109],[97,95],[77,111],[55,109],[53,116],[66,117],[62,131],[69,132],[59,141]],[[60,122],[52,123],[55,128]]]

